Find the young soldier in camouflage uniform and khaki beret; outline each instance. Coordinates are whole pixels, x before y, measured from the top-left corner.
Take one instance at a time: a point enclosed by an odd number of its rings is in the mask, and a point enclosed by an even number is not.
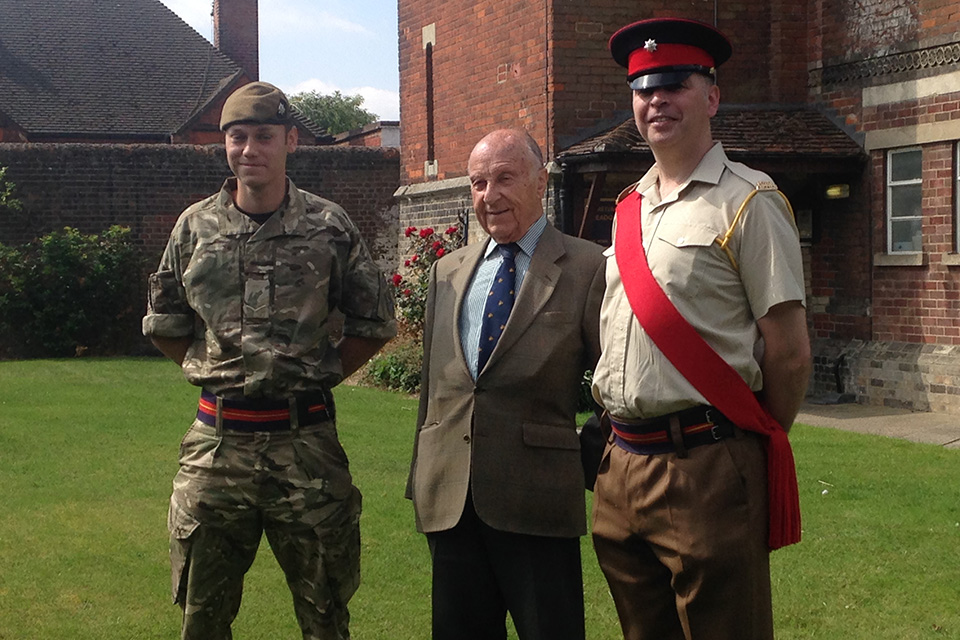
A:
[[[349,638],[360,492],[330,389],[395,335],[390,289],[343,209],[287,179],[297,129],[279,89],[240,88],[220,127],[235,177],[180,216],[143,320],[203,389],[168,519],[182,637],[231,637],[266,532],[303,637]]]

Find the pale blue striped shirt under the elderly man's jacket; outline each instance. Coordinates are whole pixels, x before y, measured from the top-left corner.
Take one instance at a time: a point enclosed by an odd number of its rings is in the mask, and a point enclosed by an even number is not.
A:
[[[534,222],[527,232],[523,235],[517,244],[520,251],[517,252],[517,282],[516,291],[520,295],[520,287],[523,285],[523,277],[530,268],[530,259],[533,252],[540,242],[540,236],[543,230],[547,228],[547,216],[541,215]],[[487,248],[483,253],[483,260],[473,274],[473,280],[467,288],[467,295],[463,297],[463,309],[460,314],[460,348],[463,349],[463,356],[467,361],[467,367],[470,369],[470,375],[477,379],[477,361],[479,359],[478,349],[480,344],[480,325],[483,322],[483,306],[487,301],[487,294],[490,287],[493,286],[493,277],[500,268],[503,258],[500,252],[496,251],[497,243],[491,238],[487,241]]]

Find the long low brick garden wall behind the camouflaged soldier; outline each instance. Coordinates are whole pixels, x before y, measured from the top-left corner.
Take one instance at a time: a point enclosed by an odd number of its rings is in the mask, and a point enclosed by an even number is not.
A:
[[[0,242],[18,244],[64,226],[96,233],[128,226],[147,265],[160,258],[180,212],[230,175],[221,145],[0,144],[0,165],[23,201],[0,216]],[[397,261],[396,149],[300,147],[294,183],[342,205],[385,271]]]

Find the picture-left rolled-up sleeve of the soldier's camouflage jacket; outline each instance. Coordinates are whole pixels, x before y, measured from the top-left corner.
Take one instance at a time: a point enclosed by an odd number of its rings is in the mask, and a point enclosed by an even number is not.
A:
[[[142,329],[145,336],[182,338],[193,335],[194,312],[187,303],[180,269],[176,228],[170,235],[156,273],[147,276],[147,314]]]

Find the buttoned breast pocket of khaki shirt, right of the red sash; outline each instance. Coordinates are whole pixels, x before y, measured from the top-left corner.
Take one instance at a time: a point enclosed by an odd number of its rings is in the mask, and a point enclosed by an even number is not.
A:
[[[650,268],[668,292],[696,296],[722,255],[717,231],[710,227],[664,221],[650,248]]]

